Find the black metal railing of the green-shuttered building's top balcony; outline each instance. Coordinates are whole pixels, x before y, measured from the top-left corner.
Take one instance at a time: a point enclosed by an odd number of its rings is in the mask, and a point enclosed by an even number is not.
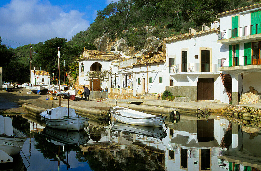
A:
[[[218,40],[261,33],[261,24],[233,28],[218,32]]]

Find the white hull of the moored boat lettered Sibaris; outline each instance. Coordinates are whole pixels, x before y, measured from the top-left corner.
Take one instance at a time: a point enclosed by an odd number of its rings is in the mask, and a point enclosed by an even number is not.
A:
[[[73,117],[73,118],[64,118],[64,119],[48,119],[41,117],[46,126],[55,129],[62,129],[62,130],[74,130],[80,131],[84,129],[84,122],[87,121],[87,118],[81,117]]]

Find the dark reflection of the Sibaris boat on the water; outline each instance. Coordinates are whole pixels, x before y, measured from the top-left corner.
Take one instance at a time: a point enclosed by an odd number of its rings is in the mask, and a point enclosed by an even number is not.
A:
[[[72,132],[67,130],[56,130],[47,126],[41,134],[45,135],[48,138],[48,141],[55,145],[81,145],[90,140],[85,130]]]

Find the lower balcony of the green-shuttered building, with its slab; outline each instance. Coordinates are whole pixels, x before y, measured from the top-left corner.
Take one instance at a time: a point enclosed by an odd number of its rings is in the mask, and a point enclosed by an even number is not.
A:
[[[218,70],[260,70],[261,55],[241,56],[218,59]]]

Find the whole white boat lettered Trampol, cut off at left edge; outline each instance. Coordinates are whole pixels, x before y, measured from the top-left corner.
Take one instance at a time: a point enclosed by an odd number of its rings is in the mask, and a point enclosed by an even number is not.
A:
[[[21,151],[26,139],[27,135],[25,133],[13,127],[11,118],[0,115],[1,162],[10,162],[12,160],[10,156],[18,154]]]

